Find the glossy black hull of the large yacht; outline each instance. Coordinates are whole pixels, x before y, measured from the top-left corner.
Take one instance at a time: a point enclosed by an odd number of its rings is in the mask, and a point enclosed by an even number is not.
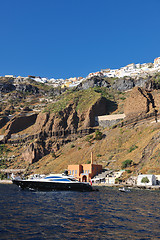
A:
[[[35,191],[92,191],[92,186],[86,183],[57,183],[33,180],[12,180],[14,184],[21,189],[35,190]]]

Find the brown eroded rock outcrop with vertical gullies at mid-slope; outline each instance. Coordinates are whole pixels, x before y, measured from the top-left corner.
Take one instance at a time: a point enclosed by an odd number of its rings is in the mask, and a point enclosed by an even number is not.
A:
[[[5,126],[5,142],[23,142],[21,158],[32,164],[47,153],[58,150],[64,143],[77,138],[79,134],[89,133],[95,125],[95,116],[106,114],[108,103],[110,101],[99,96],[93,104],[89,104],[89,108],[81,106],[84,107],[83,111],[77,109],[77,101],[55,113],[15,116]]]

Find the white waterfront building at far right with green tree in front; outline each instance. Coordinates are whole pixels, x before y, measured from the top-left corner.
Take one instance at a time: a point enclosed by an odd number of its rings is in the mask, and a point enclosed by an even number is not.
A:
[[[137,186],[156,185],[156,176],[151,174],[141,174],[137,177]]]

